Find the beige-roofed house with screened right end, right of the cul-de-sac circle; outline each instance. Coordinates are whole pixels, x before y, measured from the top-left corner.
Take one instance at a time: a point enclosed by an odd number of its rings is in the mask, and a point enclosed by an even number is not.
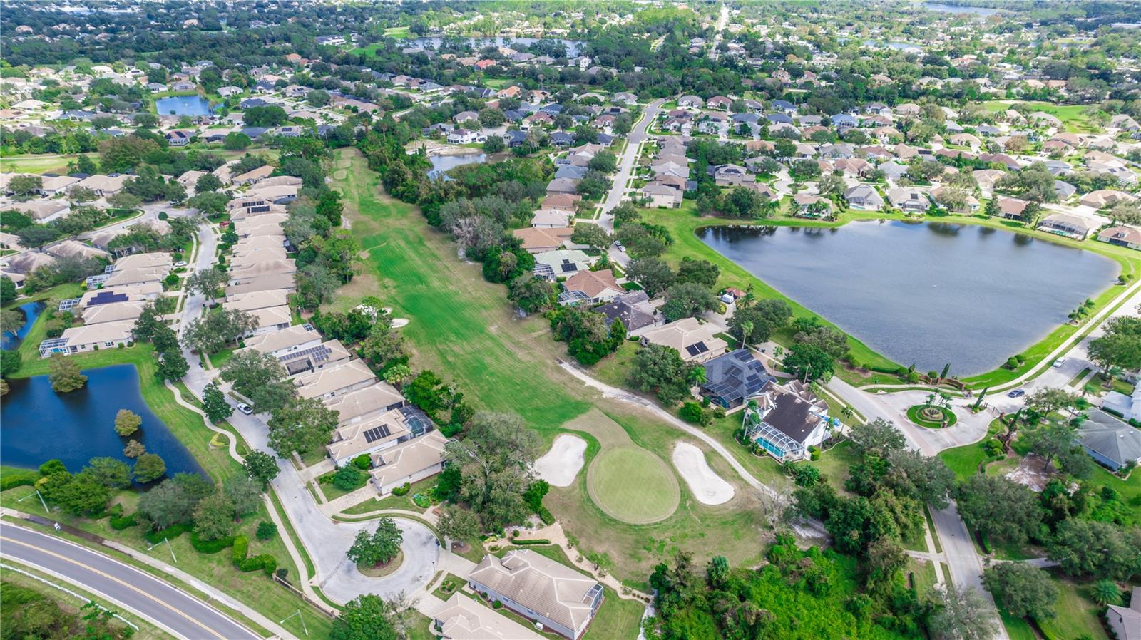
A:
[[[484,556],[468,586],[570,640],[585,633],[602,603],[598,581],[531,549],[509,551],[502,560]]]

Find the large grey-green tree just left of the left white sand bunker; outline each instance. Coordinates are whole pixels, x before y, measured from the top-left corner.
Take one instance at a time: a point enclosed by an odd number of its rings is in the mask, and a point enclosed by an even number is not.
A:
[[[479,515],[486,530],[524,521],[532,509],[523,497],[539,438],[518,415],[482,411],[468,422],[463,440],[450,441],[445,454],[463,477],[460,497]]]

